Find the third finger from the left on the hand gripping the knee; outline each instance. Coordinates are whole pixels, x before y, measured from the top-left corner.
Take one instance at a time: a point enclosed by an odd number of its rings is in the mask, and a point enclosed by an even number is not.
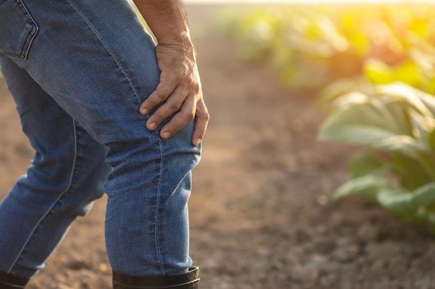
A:
[[[162,139],[168,139],[184,128],[195,118],[196,103],[194,96],[188,96],[181,106],[181,110],[175,114],[169,123],[161,129]]]

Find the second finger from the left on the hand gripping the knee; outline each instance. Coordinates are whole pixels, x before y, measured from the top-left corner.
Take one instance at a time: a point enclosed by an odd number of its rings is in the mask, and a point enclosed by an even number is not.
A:
[[[177,87],[170,97],[167,98],[166,103],[161,107],[158,107],[158,110],[149,116],[147,128],[149,130],[155,130],[162,121],[172,116],[175,112],[178,112],[181,109],[183,102],[186,100],[185,98],[186,93],[184,92],[184,89]]]

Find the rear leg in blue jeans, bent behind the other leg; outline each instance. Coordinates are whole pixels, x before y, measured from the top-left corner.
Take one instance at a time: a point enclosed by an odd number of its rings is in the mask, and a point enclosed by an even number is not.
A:
[[[22,128],[35,149],[26,175],[0,203],[0,271],[29,278],[77,216],[104,193],[107,148],[69,116],[17,64],[0,56]]]

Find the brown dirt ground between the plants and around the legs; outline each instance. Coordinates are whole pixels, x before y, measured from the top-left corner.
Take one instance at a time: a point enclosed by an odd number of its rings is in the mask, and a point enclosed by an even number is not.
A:
[[[322,112],[216,32],[220,7],[188,6],[211,112],[190,198],[204,289],[435,288],[434,236],[359,198],[334,203],[352,148],[316,141]],[[33,152],[0,83],[0,196]],[[105,200],[79,218],[29,289],[108,289]],[[0,236],[1,241],[2,236]]]

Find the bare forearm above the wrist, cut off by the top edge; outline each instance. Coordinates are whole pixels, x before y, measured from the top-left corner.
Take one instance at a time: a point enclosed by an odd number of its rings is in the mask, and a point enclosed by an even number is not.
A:
[[[158,44],[192,46],[181,0],[133,0]]]

